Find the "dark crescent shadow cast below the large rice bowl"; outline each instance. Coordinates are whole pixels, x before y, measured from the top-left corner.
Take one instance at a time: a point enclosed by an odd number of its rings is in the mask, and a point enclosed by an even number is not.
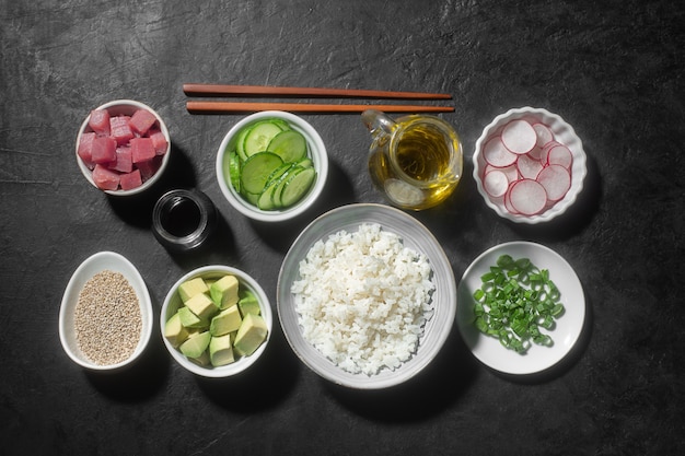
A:
[[[465,394],[477,365],[461,340],[456,326],[438,356],[418,376],[386,389],[350,389],[326,382],[345,407],[368,419],[414,422],[439,414]]]

